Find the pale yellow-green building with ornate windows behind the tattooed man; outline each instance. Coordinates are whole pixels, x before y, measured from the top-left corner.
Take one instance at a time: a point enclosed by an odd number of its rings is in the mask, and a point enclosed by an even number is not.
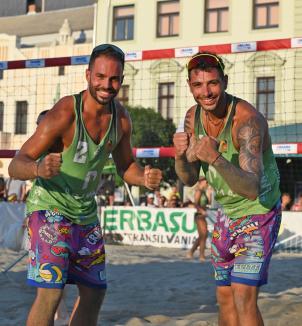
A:
[[[96,42],[114,43],[129,54],[122,100],[151,107],[176,125],[193,104],[187,57],[217,50],[226,62],[229,91],[253,103],[277,128],[274,141],[301,141],[302,75],[295,69],[302,55],[301,21],[299,0],[101,0]],[[288,47],[293,39],[297,46]],[[147,59],[148,51],[155,59]],[[290,125],[294,135],[284,129]]]

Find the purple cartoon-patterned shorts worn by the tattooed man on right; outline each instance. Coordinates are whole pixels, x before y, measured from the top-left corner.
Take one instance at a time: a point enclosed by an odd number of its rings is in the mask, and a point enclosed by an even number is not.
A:
[[[266,284],[280,223],[280,203],[266,214],[236,220],[218,210],[211,248],[216,284]]]

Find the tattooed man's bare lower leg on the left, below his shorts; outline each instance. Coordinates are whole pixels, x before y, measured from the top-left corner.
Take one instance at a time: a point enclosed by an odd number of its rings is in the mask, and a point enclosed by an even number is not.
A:
[[[219,304],[219,326],[238,326],[238,315],[230,286],[218,286],[216,289]]]

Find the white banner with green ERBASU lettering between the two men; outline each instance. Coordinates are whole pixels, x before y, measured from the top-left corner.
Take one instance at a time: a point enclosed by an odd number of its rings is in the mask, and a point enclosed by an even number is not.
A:
[[[193,208],[106,207],[101,225],[107,237],[130,245],[190,248],[197,237]]]

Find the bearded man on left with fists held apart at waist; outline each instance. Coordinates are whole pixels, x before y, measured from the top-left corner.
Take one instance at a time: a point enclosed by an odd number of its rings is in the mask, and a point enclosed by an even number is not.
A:
[[[70,323],[97,324],[106,273],[95,193],[109,155],[126,182],[159,186],[161,171],[134,160],[131,120],[114,100],[124,59],[112,44],[95,47],[86,70],[88,89],[59,100],[10,163],[12,177],[35,179],[27,199],[28,283],[37,287],[37,296],[28,326],[53,324],[66,283],[79,290]]]

